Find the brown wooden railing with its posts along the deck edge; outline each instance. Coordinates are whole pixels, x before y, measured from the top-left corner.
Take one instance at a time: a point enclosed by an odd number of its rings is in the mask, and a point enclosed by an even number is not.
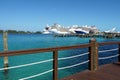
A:
[[[102,42],[97,43],[96,39],[92,38],[88,44],[81,44],[75,46],[63,46],[53,48],[39,48],[28,50],[4,51],[0,52],[0,57],[9,57],[16,55],[36,54],[38,52],[53,52],[53,80],[58,80],[58,51],[69,50],[76,48],[89,48],[89,70],[95,71],[98,69],[98,46],[117,44],[118,46],[118,59],[120,61],[120,42]]]

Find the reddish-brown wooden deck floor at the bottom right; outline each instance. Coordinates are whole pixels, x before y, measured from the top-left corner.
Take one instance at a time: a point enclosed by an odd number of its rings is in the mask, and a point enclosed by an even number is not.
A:
[[[120,63],[100,66],[96,71],[83,71],[61,80],[120,80]]]

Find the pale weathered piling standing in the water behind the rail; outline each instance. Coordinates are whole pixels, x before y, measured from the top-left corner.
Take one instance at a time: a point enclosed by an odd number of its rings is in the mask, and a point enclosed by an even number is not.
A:
[[[8,51],[8,34],[7,31],[3,32],[3,41],[4,41],[4,51]],[[7,70],[8,67],[8,56],[4,57],[4,68],[6,68],[5,70]]]

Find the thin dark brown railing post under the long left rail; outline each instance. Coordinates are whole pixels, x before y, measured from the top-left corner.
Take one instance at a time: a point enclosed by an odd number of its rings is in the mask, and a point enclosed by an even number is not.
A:
[[[53,51],[53,80],[58,80],[58,51]]]

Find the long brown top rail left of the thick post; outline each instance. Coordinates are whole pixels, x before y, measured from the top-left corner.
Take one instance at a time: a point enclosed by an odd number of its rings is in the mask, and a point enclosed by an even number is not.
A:
[[[90,44],[82,44],[76,46],[63,46],[63,47],[53,47],[53,48],[39,48],[39,49],[28,49],[28,50],[16,50],[16,51],[6,51],[0,52],[0,56],[15,56],[15,55],[23,55],[23,54],[35,54],[38,52],[52,52],[52,51],[60,51],[60,50],[69,50],[75,48],[86,48],[90,47]]]

